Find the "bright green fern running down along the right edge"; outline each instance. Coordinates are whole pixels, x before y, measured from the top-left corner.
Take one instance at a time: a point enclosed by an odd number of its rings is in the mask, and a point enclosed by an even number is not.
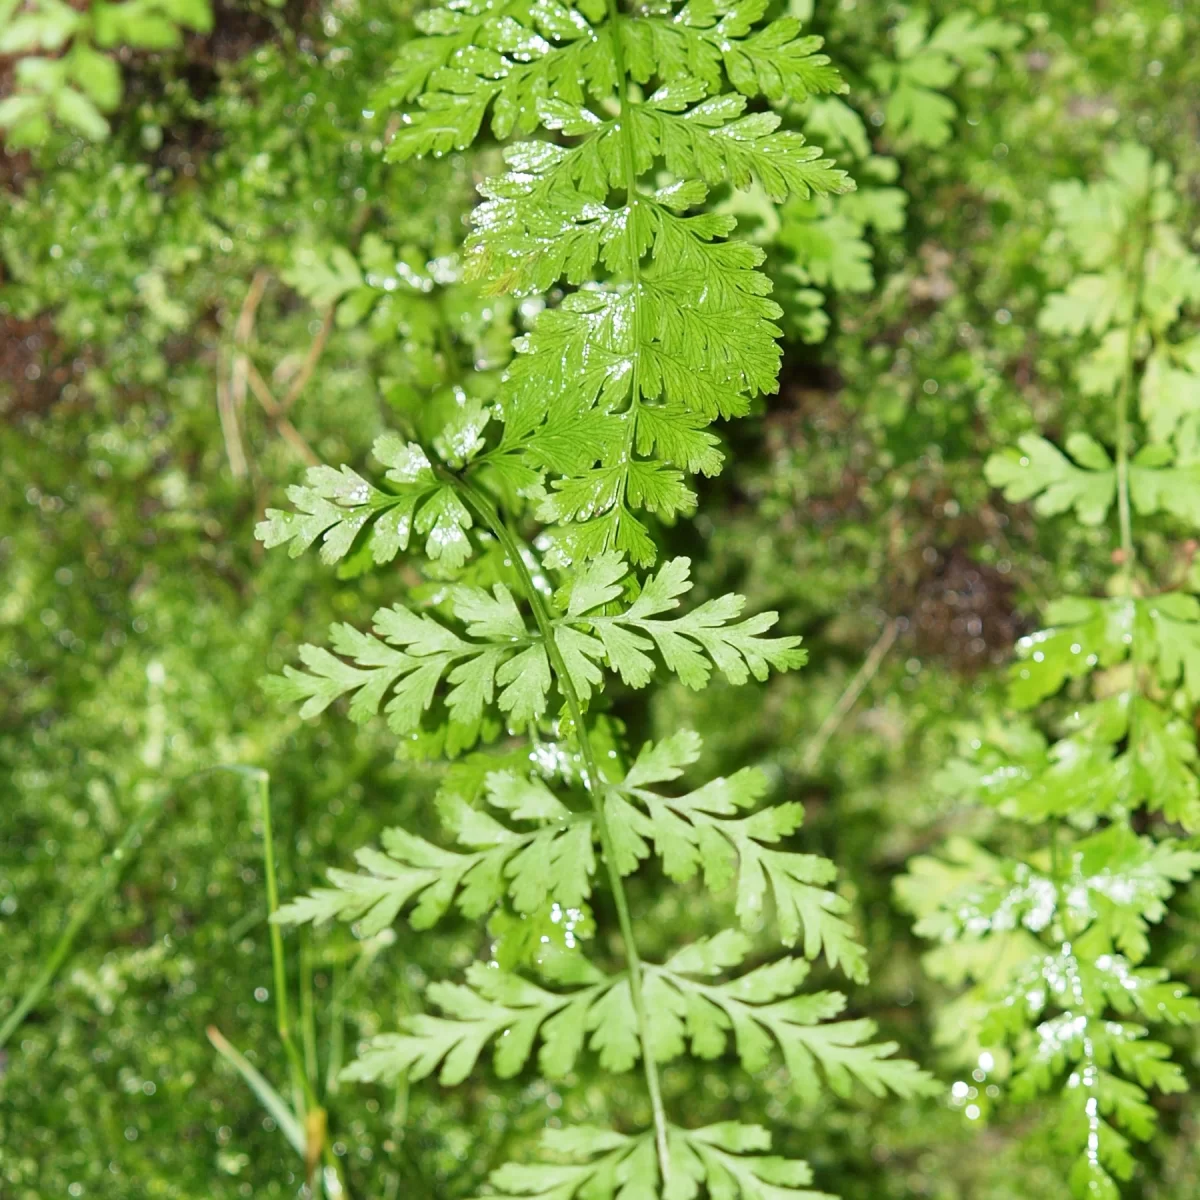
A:
[[[1200,259],[1172,221],[1168,168],[1144,148],[1120,148],[1102,182],[1060,185],[1051,202],[1049,248],[1081,270],[1039,325],[1087,340],[1081,407],[1115,452],[1082,430],[1066,455],[1030,433],[988,478],[1044,516],[1102,526],[1115,508],[1117,570],[1105,596],[1055,600],[1049,628],[1019,644],[1010,700],[1044,706],[1045,720],[972,731],[943,774],[952,794],[1024,822],[1027,852],[961,840],[917,860],[902,892],[918,931],[947,943],[934,973],[972,984],[955,1020],[959,1037],[964,1020],[978,1032],[976,1078],[1010,1051],[1014,1097],[1057,1093],[1073,1194],[1112,1200],[1134,1175],[1129,1139],[1154,1132],[1148,1093],[1187,1087],[1150,1026],[1200,1022],[1200,1002],[1147,965],[1150,926],[1200,871],[1194,842],[1178,840],[1200,829],[1200,578],[1170,551],[1200,524],[1200,342],[1180,336],[1200,306]]]

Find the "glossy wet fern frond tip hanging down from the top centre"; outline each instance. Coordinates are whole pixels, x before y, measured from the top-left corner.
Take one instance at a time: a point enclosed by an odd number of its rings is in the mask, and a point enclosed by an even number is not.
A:
[[[697,211],[708,187],[757,184],[778,200],[852,187],[776,114],[746,113],[746,97],[844,90],[818,38],[791,18],[755,28],[762,12],[758,0],[677,18],[528,0],[436,10],[386,91],[419,101],[395,160],[463,149],[487,119],[499,138],[562,139],[509,149],[467,246],[472,275],[499,292],[576,289],[518,343],[504,432],[482,460],[515,491],[546,485],[553,560],[653,562],[636,514],[690,512],[686,478],[720,466],[704,427],[775,389],[780,308],[763,254],[730,240],[731,217]],[[576,422],[563,454],[556,431]]]

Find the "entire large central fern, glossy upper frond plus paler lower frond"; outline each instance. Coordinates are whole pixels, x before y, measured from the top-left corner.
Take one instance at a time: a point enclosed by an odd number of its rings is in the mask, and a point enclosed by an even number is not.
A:
[[[804,1163],[769,1153],[767,1130],[671,1123],[659,1067],[689,1046],[702,1058],[733,1048],[749,1070],[778,1052],[800,1096],[816,1091],[817,1068],[839,1092],[854,1080],[876,1093],[930,1086],[893,1044],[870,1043],[869,1021],[835,1020],[841,995],[800,991],[821,952],[854,979],[865,964],[827,887],[832,864],[786,845],[799,805],[763,805],[754,768],[682,784],[700,754],[686,731],[630,761],[598,712],[613,676],[642,688],[665,668],[702,688],[714,670],[740,684],[804,661],[798,638],[770,635],[774,613],[742,616],[742,596],[682,610],[688,559],[640,570],[656,557],[649,521],[690,512],[688,476],[721,466],[712,422],[776,385],[779,308],[762,254],[706,209],[708,188],[757,181],[782,199],[852,186],[769,109],[841,83],[820,40],[791,18],[763,23],[764,10],[454,0],[420,18],[427,36],[406,47],[383,98],[416,101],[390,154],[462,150],[485,121],[497,138],[527,138],[482,185],[466,256],[476,280],[536,316],[492,401],[468,380],[428,449],[386,434],[378,485],[317,468],[292,490],[295,511],[269,511],[259,530],[293,553],[319,538],[328,562],[358,548],[380,564],[415,536],[443,581],[424,611],[383,608],[371,632],[337,625],[331,652],[304,648],[307,670],[289,668],[280,695],[310,716],[346,696],[359,720],[390,696],[388,721],[410,752],[492,744],[448,776],[445,846],[390,829],[382,850],[359,852],[361,871],[331,871],[329,888],[280,919],[366,931],[408,908],[424,929],[451,905],[475,919],[505,906],[536,914],[594,892],[616,916],[619,970],[577,946],[521,971],[476,962],[463,983],[428,989],[440,1015],[408,1019],[348,1068],[383,1080],[439,1070],[455,1084],[488,1043],[497,1073],[512,1075],[539,1040],[547,1076],[586,1049],[607,1070],[641,1063],[647,1128],[547,1129],[544,1162],[494,1172],[499,1195],[816,1196]],[[547,136],[528,139],[538,130]],[[672,880],[732,887],[746,931],[773,906],[779,941],[803,956],[739,972],[752,943],[731,928],[644,961],[624,878],[652,854]]]

